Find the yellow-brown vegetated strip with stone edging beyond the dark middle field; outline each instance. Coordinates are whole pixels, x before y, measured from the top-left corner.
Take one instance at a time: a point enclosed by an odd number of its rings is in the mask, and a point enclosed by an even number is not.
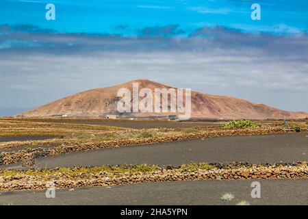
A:
[[[70,121],[70,123],[66,123],[66,121]],[[199,126],[200,123],[196,127],[185,127],[183,125],[181,128],[133,129],[129,127],[75,124],[73,121],[73,119],[0,118],[0,138],[1,136],[29,136],[23,138],[23,142],[18,141],[18,138],[16,138],[16,142],[14,142],[14,138],[10,138],[11,142],[0,142],[0,149],[16,148],[16,151],[4,152],[0,162],[2,164],[14,164],[16,162],[25,162],[24,157],[35,156],[38,158],[90,149],[155,144],[193,138],[204,139],[216,136],[246,136],[307,131],[307,127],[294,127],[295,122],[293,123],[293,121],[288,121],[291,126],[285,127],[282,120],[259,120],[257,123],[260,127],[250,120],[231,121],[224,125],[224,127],[229,127],[228,129]],[[82,120],[82,122],[86,121],[88,120]],[[92,122],[98,121],[101,120],[93,120]],[[168,121],[159,121],[158,123],[164,122],[169,123]],[[305,122],[306,120],[296,120],[296,123],[303,126],[305,126]],[[140,121],[136,123],[140,123]],[[259,128],[250,129],[250,127]],[[54,139],[35,140],[31,136],[54,136]],[[189,168],[196,168],[196,166],[190,165]],[[197,168],[202,167],[198,166]]]

